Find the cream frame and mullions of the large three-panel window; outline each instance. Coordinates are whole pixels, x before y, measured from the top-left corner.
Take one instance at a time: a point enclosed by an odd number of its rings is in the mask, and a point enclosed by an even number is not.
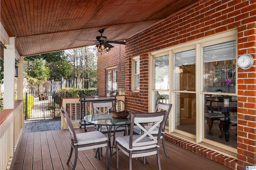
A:
[[[150,53],[150,59],[149,59],[149,65],[150,65],[150,70],[149,70],[149,79],[151,81],[149,81],[149,106],[152,106],[152,102],[154,102],[153,98],[153,86],[152,86],[152,71],[153,71],[153,66],[152,66],[152,62],[153,62],[153,57],[157,57],[159,56],[161,53],[169,53],[170,56],[170,78],[169,78],[169,98],[170,98],[170,103],[173,104],[171,113],[170,113],[170,117],[169,117],[169,133],[175,133],[176,136],[181,137],[181,138],[185,138],[189,141],[192,141],[194,143],[200,143],[200,145],[210,145],[210,146],[216,146],[215,148],[212,148],[213,150],[219,150],[219,149],[224,149],[227,151],[230,151],[230,156],[234,156],[233,153],[237,153],[237,149],[233,148],[233,147],[229,147],[227,145],[215,142],[215,141],[211,141],[209,139],[205,139],[204,137],[204,94],[207,94],[208,92],[204,92],[204,85],[203,85],[203,61],[202,61],[202,48],[209,46],[209,45],[214,45],[214,44],[218,44],[218,43],[224,43],[224,42],[228,42],[228,41],[234,41],[236,40],[236,46],[238,45],[237,42],[237,29],[233,29],[230,31],[225,31],[222,33],[218,33],[215,35],[211,35],[208,37],[203,37],[201,39],[197,39],[194,41],[190,41],[188,43],[183,43],[180,45],[176,45],[173,47],[169,47],[163,50],[159,50],[159,51],[154,51],[152,53]],[[187,51],[192,49],[192,47],[196,47],[196,135],[193,136],[189,133],[186,132],[180,132],[178,130],[175,129],[175,101],[174,101],[174,95],[175,92],[179,92],[179,91],[174,91],[173,90],[173,85],[171,82],[173,82],[173,74],[171,73],[173,71],[173,54],[177,53],[177,52],[182,52],[182,51]],[[236,49],[238,49],[236,47]],[[237,52],[236,52],[237,53]],[[238,55],[236,54],[236,59],[237,59]],[[236,65],[236,72],[237,72],[237,68],[238,66]],[[237,84],[237,78],[236,78],[236,84]],[[236,93],[232,94],[233,96],[237,96],[237,86],[236,86]],[[192,92],[194,93],[194,92]],[[230,94],[231,95],[231,94]],[[150,108],[150,107],[149,107]]]

